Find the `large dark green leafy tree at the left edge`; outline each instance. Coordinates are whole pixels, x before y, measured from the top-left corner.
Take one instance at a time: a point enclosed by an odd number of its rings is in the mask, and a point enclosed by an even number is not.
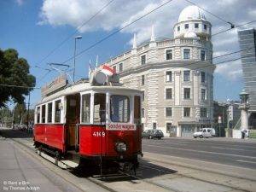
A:
[[[29,73],[29,65],[24,58],[19,58],[15,49],[0,49],[0,84],[13,84],[34,87],[36,78]],[[0,108],[12,97],[16,103],[23,103],[32,88],[0,86]]]

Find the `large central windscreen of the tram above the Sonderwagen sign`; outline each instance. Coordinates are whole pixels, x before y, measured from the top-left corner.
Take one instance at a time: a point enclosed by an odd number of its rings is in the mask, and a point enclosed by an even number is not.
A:
[[[128,96],[111,96],[110,106],[110,118],[112,122],[129,122],[130,101]]]

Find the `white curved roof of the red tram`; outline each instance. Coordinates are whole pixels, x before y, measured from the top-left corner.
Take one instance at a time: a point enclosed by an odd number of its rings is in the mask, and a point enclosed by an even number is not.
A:
[[[84,92],[86,90],[95,90],[95,91],[102,91],[102,90],[113,90],[113,91],[119,91],[120,93],[128,94],[128,93],[135,93],[140,94],[141,90],[131,89],[127,88],[121,85],[101,85],[101,86],[95,86],[91,85],[90,83],[80,83],[80,84],[73,84],[71,86],[68,86],[67,88],[60,90],[58,92],[55,92],[54,94],[50,96],[45,96],[41,102],[38,102],[37,105],[42,104],[44,102],[49,102],[51,100],[55,100],[58,97],[61,96],[68,96],[80,92]]]

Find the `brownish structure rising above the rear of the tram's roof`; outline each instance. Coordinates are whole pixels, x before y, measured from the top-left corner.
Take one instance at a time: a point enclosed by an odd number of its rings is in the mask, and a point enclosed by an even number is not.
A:
[[[55,90],[59,90],[66,85],[67,85],[67,76],[64,74],[57,77],[49,84],[44,85],[41,89],[41,94],[43,97],[48,96],[49,94],[55,92]]]

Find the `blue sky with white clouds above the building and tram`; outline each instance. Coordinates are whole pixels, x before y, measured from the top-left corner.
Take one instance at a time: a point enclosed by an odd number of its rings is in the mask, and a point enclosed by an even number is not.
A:
[[[42,68],[49,68],[50,62],[62,63],[73,57],[75,36],[82,36],[82,39],[77,41],[79,53],[166,1],[0,0],[0,49],[17,49],[20,57],[26,58],[30,64],[30,72],[37,78],[37,87],[41,87],[58,75],[57,72],[48,73]],[[191,3],[218,16],[217,18],[205,12],[207,20],[212,23],[212,34],[230,28],[230,24],[226,21],[238,26],[256,20],[255,0],[172,0],[142,20],[138,20],[77,56],[76,79],[88,76],[89,60],[95,65],[96,55],[99,55],[99,63],[103,63],[131,49],[134,32],[137,33],[138,44],[150,38],[152,25],[156,38],[173,38],[172,27],[177,22],[180,12]],[[82,26],[106,4],[108,4],[106,9]],[[243,27],[256,27],[256,22]],[[64,39],[67,41],[61,44]],[[212,44],[213,57],[239,50],[237,29],[213,36]],[[56,47],[58,49],[55,49]],[[49,55],[53,49],[55,52]],[[238,53],[213,62],[239,57]],[[66,64],[73,66],[73,60],[67,61]],[[240,60],[219,64],[213,75],[214,100],[239,99],[243,87]],[[32,91],[32,106],[40,100],[40,95],[40,89]]]

